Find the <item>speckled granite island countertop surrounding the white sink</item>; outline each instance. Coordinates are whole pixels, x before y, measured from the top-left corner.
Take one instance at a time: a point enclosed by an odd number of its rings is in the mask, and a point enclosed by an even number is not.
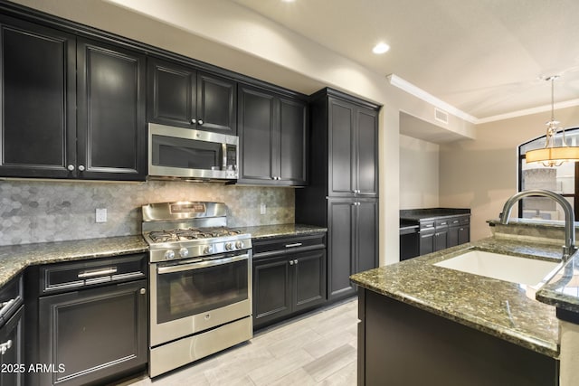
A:
[[[376,293],[557,358],[559,325],[555,307],[537,301],[536,288],[432,265],[467,249],[557,262],[561,257],[560,246],[491,237],[351,278]]]

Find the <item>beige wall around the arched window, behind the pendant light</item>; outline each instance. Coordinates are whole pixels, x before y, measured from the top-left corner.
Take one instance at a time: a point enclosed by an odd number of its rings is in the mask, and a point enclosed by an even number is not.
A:
[[[564,127],[579,127],[579,108],[555,110]],[[550,111],[478,125],[477,140],[441,145],[440,203],[471,209],[471,240],[490,236],[508,197],[517,193],[517,146],[545,136]],[[512,215],[517,215],[516,211]]]

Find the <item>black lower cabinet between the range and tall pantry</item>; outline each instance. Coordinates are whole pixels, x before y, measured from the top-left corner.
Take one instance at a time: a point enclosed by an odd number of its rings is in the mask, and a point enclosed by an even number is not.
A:
[[[254,254],[254,328],[279,322],[326,302],[325,245],[308,243],[323,239],[323,236],[285,239],[271,244],[283,249]],[[257,247],[259,250],[259,241]]]

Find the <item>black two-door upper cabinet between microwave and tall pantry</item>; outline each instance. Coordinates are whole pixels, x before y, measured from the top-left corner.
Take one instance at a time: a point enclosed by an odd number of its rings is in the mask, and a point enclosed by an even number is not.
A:
[[[307,104],[240,85],[241,184],[307,184]]]

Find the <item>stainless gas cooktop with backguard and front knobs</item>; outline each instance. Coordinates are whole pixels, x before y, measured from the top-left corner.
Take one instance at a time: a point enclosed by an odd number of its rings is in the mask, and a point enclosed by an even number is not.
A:
[[[214,259],[252,248],[252,235],[227,228],[223,202],[158,202],[143,206],[150,261]]]

